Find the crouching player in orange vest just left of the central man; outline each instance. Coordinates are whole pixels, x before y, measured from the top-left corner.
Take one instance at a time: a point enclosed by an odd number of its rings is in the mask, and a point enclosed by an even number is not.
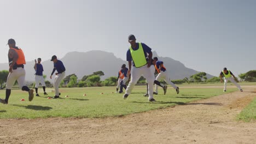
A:
[[[118,72],[118,85],[117,85],[117,92],[118,93],[118,89],[120,88],[120,91],[119,93],[123,93],[123,88],[126,89],[126,85],[125,83],[127,82],[128,80],[128,77],[127,77],[127,74],[128,74],[128,68],[126,68],[126,65],[123,64],[121,69],[119,70]]]

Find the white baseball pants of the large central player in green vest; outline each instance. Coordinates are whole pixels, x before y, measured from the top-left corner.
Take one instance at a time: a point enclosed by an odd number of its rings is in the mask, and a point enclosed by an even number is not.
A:
[[[147,67],[147,65],[144,65],[140,68],[133,67],[131,70],[131,81],[129,82],[129,85],[126,88],[125,94],[131,94],[133,87],[136,85],[139,78],[143,75],[148,82],[148,99],[152,99],[155,80],[154,72],[154,65],[151,65],[149,68]]]

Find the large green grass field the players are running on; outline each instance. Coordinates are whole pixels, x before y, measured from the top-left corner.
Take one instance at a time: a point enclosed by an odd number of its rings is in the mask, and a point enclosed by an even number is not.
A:
[[[46,89],[53,96],[53,89]],[[143,97],[145,86],[136,86],[132,94],[124,100],[123,94],[116,94],[115,87],[61,88],[60,99],[47,99],[42,94],[28,101],[26,92],[13,90],[8,105],[1,104],[0,118],[48,118],[48,117],[85,117],[102,118],[123,116],[129,113],[162,109],[168,106],[188,103],[189,101],[209,98],[223,94],[220,88],[182,88],[177,95],[173,88],[168,88],[166,95],[159,89],[155,95],[156,103],[150,103]],[[228,92],[236,91],[229,88]],[[86,96],[83,94],[86,93]],[[103,93],[103,94],[101,94]],[[0,91],[4,98],[5,91]],[[65,95],[69,95],[65,98]],[[20,101],[25,99],[25,101]]]

